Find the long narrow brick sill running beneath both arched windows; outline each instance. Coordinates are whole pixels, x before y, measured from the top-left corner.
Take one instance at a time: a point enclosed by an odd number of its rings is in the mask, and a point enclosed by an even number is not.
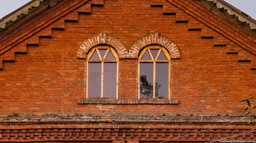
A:
[[[178,99],[77,99],[77,104],[179,104]]]

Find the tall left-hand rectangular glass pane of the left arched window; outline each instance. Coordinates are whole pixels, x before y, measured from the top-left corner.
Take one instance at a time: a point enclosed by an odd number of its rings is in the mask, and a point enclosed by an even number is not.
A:
[[[89,62],[88,97],[101,97],[101,62]]]

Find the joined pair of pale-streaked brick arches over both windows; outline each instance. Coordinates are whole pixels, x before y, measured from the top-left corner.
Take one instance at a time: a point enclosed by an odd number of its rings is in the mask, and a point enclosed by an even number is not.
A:
[[[178,59],[181,57],[177,45],[167,37],[159,36],[158,33],[152,33],[146,37],[141,37],[141,39],[135,41],[135,43],[131,45],[128,52],[127,48],[120,40],[108,36],[107,33],[101,32],[99,35],[85,40],[85,42],[80,45],[77,51],[77,58],[86,59],[88,51],[99,44],[107,44],[115,48],[120,59],[138,58],[139,51],[151,44],[158,44],[165,47],[168,50],[171,59]]]

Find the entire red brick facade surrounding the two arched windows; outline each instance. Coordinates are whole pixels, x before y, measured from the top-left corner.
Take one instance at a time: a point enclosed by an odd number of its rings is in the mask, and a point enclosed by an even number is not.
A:
[[[119,55],[118,99],[85,98],[86,57],[102,44]],[[152,44],[171,57],[170,99],[138,99]],[[0,69],[0,142],[203,143],[254,128],[234,119],[256,96],[256,38],[195,0],[60,0],[1,37]]]

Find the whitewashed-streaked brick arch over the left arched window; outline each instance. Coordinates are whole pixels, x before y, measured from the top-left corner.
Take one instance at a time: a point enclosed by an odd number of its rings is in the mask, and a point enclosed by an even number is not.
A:
[[[99,44],[112,46],[117,51],[119,58],[128,58],[128,50],[124,44],[115,37],[108,36],[108,34],[104,32],[87,39],[81,44],[77,51],[77,58],[86,59],[88,51]]]

